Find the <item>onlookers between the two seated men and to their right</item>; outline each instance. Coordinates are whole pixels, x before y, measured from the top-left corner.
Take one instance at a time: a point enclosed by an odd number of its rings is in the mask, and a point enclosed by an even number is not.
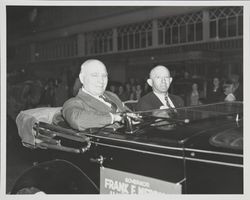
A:
[[[182,81],[182,80],[180,80]],[[189,84],[183,84],[183,100],[186,106],[195,106],[207,103],[222,101],[243,101],[243,87],[240,83],[239,76],[233,74],[228,78],[214,76],[212,80],[197,81],[190,78]],[[186,82],[184,82],[186,83]],[[205,90],[204,91],[204,84]],[[131,78],[125,84],[110,83],[108,90],[117,94],[122,101],[139,101],[139,99],[152,91],[149,84],[139,82]],[[174,93],[175,86],[173,86]]]

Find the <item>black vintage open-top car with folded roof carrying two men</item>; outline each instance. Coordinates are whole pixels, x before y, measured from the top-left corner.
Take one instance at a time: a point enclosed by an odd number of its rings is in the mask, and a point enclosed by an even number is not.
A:
[[[12,194],[243,194],[242,102],[123,113],[116,129],[81,132],[57,111],[17,117],[23,145],[49,156]]]

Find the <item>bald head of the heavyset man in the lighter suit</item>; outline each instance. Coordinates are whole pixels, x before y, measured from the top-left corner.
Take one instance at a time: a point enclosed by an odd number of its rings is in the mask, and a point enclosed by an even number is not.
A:
[[[100,96],[104,93],[108,83],[106,66],[100,60],[87,60],[81,65],[79,79],[85,90],[92,95]]]

